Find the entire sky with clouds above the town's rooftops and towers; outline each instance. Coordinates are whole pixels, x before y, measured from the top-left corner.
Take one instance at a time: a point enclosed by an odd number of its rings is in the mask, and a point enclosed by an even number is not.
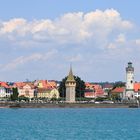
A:
[[[0,0],[0,81],[140,81],[139,0]]]

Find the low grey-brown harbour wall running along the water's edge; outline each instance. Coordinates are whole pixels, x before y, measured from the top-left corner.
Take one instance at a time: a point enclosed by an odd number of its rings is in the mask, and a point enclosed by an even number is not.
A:
[[[138,108],[132,104],[84,103],[0,103],[0,108]]]

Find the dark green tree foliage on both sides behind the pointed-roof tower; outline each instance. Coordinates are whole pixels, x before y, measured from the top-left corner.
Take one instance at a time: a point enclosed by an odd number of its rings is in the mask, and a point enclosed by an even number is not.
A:
[[[85,92],[85,82],[81,80],[80,77],[74,76],[74,79],[76,81],[76,97],[84,97],[84,92]],[[62,81],[60,82],[59,86],[59,93],[60,97],[66,97],[66,87],[65,87],[65,82],[67,80],[67,77],[63,78]]]

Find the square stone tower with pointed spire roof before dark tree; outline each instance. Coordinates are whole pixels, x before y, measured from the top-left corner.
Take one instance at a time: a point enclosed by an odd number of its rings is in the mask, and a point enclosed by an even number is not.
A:
[[[73,76],[72,67],[70,67],[69,75],[67,77],[65,86],[66,86],[66,102],[69,103],[75,102],[76,81]]]

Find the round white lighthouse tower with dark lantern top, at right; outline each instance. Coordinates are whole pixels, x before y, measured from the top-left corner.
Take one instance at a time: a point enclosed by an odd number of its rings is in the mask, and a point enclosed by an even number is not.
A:
[[[132,62],[128,62],[126,67],[126,92],[125,98],[130,100],[134,99],[134,67]]]

